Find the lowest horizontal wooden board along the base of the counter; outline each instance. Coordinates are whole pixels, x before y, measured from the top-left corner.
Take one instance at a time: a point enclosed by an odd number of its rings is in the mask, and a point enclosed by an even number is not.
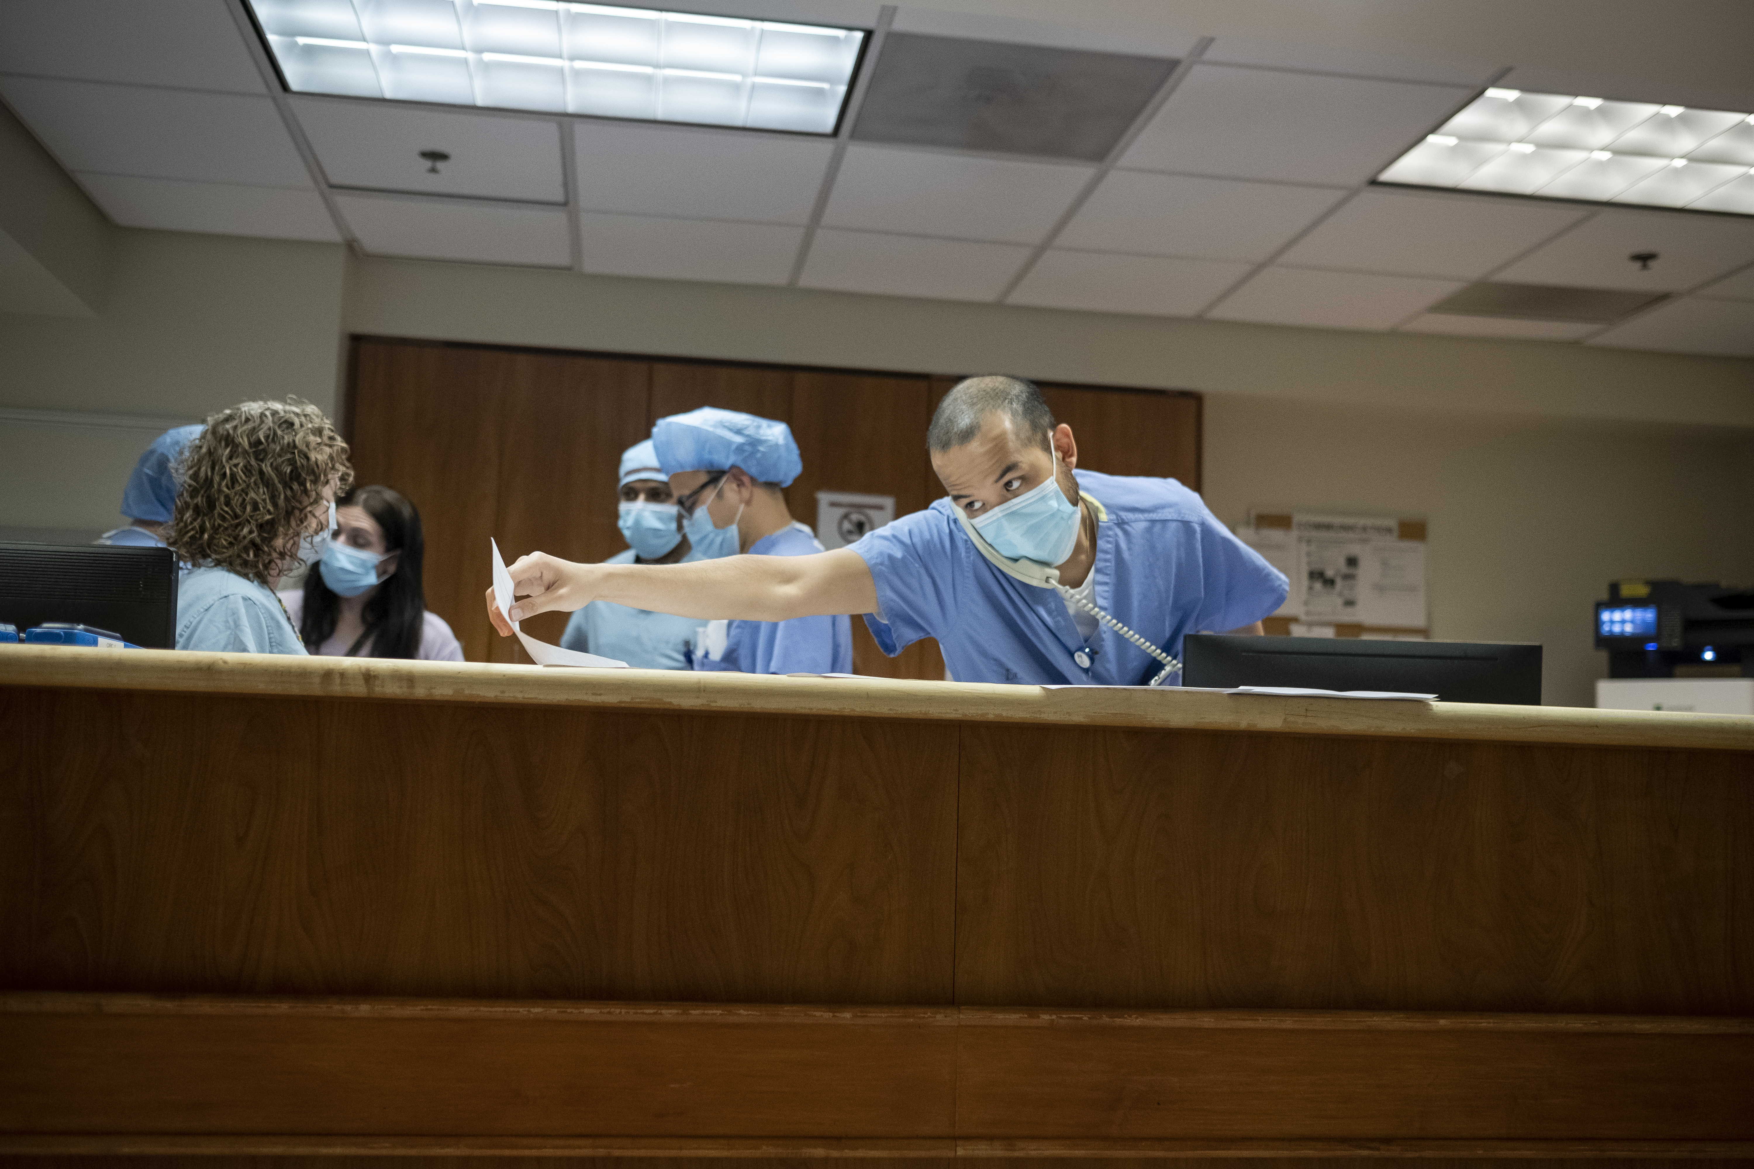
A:
[[[0,1132],[63,1141],[1016,1158],[1754,1137],[1750,1020],[0,995]]]

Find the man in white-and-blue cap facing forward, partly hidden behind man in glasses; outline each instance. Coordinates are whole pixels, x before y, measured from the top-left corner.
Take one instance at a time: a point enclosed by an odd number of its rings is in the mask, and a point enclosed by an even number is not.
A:
[[[628,547],[605,564],[681,564],[700,559],[682,535],[682,517],[670,484],[658,470],[651,438],[628,447],[621,456],[617,492],[616,526]],[[560,643],[568,650],[624,661],[635,670],[688,670],[698,633],[700,620],[695,617],[591,601],[572,615]]]

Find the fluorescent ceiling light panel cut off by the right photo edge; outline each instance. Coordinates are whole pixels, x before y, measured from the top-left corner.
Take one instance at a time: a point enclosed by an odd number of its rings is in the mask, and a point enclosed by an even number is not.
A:
[[[1754,114],[1493,88],[1377,182],[1754,216]]]

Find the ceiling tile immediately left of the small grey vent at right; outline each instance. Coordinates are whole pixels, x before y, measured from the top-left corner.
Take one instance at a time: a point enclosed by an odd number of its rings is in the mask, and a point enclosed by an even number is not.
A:
[[[1326,329],[1387,329],[1459,287],[1456,280],[1268,268],[1207,315]]]

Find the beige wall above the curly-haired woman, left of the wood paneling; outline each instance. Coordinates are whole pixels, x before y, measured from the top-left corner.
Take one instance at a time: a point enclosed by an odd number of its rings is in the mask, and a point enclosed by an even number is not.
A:
[[[118,231],[96,315],[0,314],[0,528],[119,524],[146,443],[246,398],[333,410],[344,263],[339,244]]]

